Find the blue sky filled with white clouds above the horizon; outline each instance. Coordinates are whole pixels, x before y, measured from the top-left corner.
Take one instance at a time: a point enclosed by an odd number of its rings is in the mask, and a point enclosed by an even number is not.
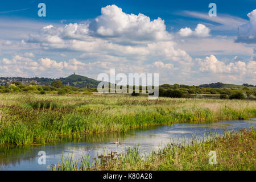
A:
[[[110,69],[159,73],[160,84],[256,85],[256,0],[0,2],[0,77]]]

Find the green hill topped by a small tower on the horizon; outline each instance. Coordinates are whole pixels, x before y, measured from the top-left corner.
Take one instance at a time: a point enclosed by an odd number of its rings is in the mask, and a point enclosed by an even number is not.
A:
[[[79,88],[97,88],[100,81],[81,75],[70,75],[66,78],[60,78],[64,85],[77,86]]]

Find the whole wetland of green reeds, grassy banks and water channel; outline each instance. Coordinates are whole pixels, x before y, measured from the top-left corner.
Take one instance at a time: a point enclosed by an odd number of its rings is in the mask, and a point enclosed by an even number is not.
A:
[[[0,166],[255,170],[255,117],[253,100],[0,94]],[[113,144],[117,139],[119,146]],[[36,168],[42,150],[55,157]],[[217,152],[217,165],[209,165],[209,151]]]

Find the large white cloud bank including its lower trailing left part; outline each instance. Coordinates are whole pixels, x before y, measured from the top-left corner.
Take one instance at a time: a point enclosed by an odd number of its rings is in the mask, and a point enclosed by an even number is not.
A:
[[[161,18],[151,20],[143,14],[126,14],[121,8],[112,5],[103,7],[101,15],[92,22],[69,23],[65,27],[55,27],[52,24],[44,26],[38,32],[30,34],[28,42],[40,43],[44,48],[67,48],[68,44],[106,44],[106,40],[119,44],[133,41],[167,41],[171,40],[171,37]]]

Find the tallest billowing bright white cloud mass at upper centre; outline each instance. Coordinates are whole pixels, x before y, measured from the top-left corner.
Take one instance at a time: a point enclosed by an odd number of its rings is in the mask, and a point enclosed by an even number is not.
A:
[[[151,20],[139,13],[126,14],[121,8],[112,5],[101,9],[101,15],[91,24],[99,36],[123,37],[134,40],[166,40],[171,35],[161,18]]]

